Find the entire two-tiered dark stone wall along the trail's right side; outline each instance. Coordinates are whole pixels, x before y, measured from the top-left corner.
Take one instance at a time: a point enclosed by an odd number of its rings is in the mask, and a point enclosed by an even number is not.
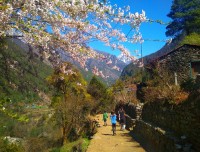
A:
[[[122,105],[121,105],[122,106]],[[200,91],[176,105],[157,101],[137,106],[126,104],[127,129],[149,152],[197,152],[200,149]],[[133,115],[134,118],[130,117]],[[136,114],[136,115],[135,115]]]

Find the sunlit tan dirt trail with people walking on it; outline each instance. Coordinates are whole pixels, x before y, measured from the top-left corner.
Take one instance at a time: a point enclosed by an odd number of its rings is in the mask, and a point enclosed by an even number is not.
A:
[[[100,122],[101,127],[93,136],[87,152],[145,152],[129,135],[129,131],[121,131],[120,126],[117,125],[117,135],[113,136],[110,119],[108,119],[108,126],[103,126],[102,115],[97,115],[95,119]]]

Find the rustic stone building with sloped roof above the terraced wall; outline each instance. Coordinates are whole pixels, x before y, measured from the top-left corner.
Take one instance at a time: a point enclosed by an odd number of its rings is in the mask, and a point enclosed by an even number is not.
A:
[[[200,45],[184,44],[157,59],[161,70],[167,70],[176,83],[200,76]]]

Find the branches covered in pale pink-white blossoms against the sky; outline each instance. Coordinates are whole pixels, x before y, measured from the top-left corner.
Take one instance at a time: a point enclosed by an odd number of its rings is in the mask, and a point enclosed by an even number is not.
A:
[[[142,43],[139,26],[145,21],[144,11],[131,13],[129,6],[122,9],[105,0],[0,0],[0,39],[21,37],[47,58],[62,49],[82,67],[89,58],[104,59],[88,47],[92,41],[138,62],[123,43]],[[123,25],[130,27],[128,34]],[[104,76],[96,67],[93,73]]]

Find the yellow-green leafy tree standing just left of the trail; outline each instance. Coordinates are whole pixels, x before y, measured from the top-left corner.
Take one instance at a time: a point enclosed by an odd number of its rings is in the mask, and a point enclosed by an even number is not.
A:
[[[86,82],[70,63],[64,63],[56,68],[54,74],[47,80],[56,88],[52,106],[55,109],[55,120],[62,128],[64,144],[67,138],[75,140],[81,132],[91,98],[85,89]]]

